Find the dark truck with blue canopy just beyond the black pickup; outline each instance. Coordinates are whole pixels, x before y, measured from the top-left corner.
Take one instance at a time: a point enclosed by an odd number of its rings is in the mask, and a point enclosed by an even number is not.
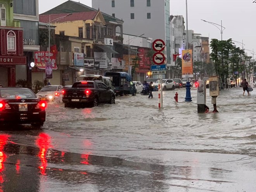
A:
[[[106,72],[106,77],[110,77],[114,86],[114,93],[119,96],[123,96],[127,90],[124,90],[123,85],[125,82],[128,84],[128,94],[136,95],[136,88],[131,81],[131,75],[126,72]]]

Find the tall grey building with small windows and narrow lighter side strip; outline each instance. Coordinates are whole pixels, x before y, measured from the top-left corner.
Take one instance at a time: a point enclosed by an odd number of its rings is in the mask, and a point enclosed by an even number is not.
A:
[[[171,64],[170,0],[92,0],[92,7],[124,21],[126,34],[162,39]]]

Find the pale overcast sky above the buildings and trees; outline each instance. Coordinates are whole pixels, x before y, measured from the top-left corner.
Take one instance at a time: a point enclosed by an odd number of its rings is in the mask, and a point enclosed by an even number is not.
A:
[[[67,0],[39,0],[39,13],[43,13]],[[78,0],[74,0],[78,2]],[[140,0],[141,1],[141,0]],[[157,0],[154,0],[157,1]],[[226,29],[223,31],[223,40],[232,38],[245,44],[244,48],[256,52],[256,3],[253,0],[187,0],[189,29],[202,36],[221,39],[220,30],[206,21],[221,24]],[[92,6],[92,0],[80,0],[88,6]],[[185,0],[170,0],[170,12],[172,15],[186,17]],[[185,18],[186,21],[186,18]],[[238,47],[242,48],[240,43]],[[250,51],[247,51],[248,55]],[[256,54],[254,55],[256,58]]]

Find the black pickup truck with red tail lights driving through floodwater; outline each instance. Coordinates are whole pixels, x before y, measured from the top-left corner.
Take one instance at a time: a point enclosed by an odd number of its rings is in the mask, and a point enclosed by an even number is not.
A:
[[[115,104],[115,94],[102,81],[77,81],[71,88],[64,88],[62,101],[65,107],[95,107],[99,103]]]

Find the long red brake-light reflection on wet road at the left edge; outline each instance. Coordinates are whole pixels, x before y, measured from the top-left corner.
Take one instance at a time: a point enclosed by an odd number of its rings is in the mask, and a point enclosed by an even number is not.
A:
[[[3,192],[2,183],[4,182],[4,162],[6,160],[6,154],[3,151],[4,146],[7,144],[7,140],[10,135],[0,135],[0,192]]]

